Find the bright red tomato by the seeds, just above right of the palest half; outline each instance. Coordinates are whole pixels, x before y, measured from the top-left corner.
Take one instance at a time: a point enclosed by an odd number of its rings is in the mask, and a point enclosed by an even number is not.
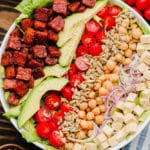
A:
[[[102,52],[102,47],[100,44],[95,43],[88,49],[88,51],[91,55],[98,56]]]

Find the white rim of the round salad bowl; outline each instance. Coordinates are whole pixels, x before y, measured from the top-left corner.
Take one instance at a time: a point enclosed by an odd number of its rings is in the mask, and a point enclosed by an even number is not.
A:
[[[139,24],[143,25],[149,32],[150,32],[150,26],[149,24],[135,11],[133,10],[130,6],[128,6],[127,4],[125,4],[123,1],[121,0],[110,0],[112,3],[117,3],[120,6],[126,7],[128,10],[130,10],[131,12],[133,12],[133,14],[136,16],[136,18],[138,19]],[[1,48],[0,48],[0,58],[2,53],[4,52],[6,45],[7,45],[7,41],[9,38],[10,33],[13,31],[13,29],[15,28],[15,23],[13,23],[11,25],[11,27],[9,28],[8,32],[5,35],[5,38],[2,42]],[[2,79],[0,79],[0,82],[2,82]],[[4,111],[8,111],[9,110],[9,105],[6,102],[6,100],[4,99],[4,91],[2,88],[0,88],[0,100],[2,103],[2,106],[4,108]],[[14,127],[21,133],[23,129],[19,129],[17,127],[17,122],[15,119],[10,119],[11,123],[14,125]],[[113,147],[113,148],[109,148],[109,150],[119,150],[120,148],[124,147],[125,145],[129,144],[131,141],[133,141],[135,139],[135,137],[137,137],[137,135],[139,135],[142,130],[148,125],[148,123],[150,122],[150,116],[149,118],[142,124],[140,124],[138,126],[137,132],[135,134],[133,134],[128,140],[124,140],[121,143],[119,143],[117,146]],[[34,142],[33,144],[35,144],[37,147],[44,149],[44,146],[38,142]]]

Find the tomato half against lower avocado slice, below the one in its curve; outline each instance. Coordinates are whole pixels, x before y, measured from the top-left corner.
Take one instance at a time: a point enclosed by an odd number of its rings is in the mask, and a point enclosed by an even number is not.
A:
[[[35,114],[36,122],[48,122],[51,119],[50,110],[47,107],[40,108]]]

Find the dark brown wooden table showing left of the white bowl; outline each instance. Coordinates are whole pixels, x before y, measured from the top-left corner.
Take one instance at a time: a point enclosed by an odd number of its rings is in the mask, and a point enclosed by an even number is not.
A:
[[[14,7],[20,0],[0,0],[0,44],[14,19],[19,15]],[[25,150],[39,150],[33,144],[28,144],[12,126],[9,120],[2,117],[4,110],[0,103],[0,146],[3,144],[18,144]],[[1,149],[1,148],[0,148]]]

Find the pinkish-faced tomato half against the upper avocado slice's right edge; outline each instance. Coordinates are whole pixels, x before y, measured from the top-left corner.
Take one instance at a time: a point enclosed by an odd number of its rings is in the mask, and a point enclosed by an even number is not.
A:
[[[95,20],[90,20],[85,24],[85,31],[92,35],[96,34],[99,31],[99,29],[100,25]]]

